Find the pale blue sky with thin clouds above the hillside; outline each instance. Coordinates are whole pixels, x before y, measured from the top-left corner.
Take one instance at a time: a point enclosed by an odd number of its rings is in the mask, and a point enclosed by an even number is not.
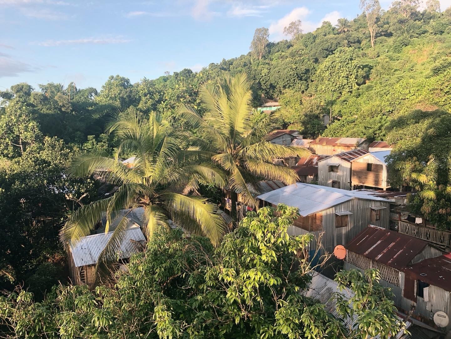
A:
[[[255,28],[279,41],[296,19],[311,32],[359,12],[358,0],[0,0],[0,90],[71,81],[101,89],[115,74],[135,83],[199,71],[248,53]]]

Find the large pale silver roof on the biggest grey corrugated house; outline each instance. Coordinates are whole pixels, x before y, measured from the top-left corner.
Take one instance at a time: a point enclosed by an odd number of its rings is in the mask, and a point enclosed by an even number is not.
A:
[[[362,191],[341,190],[300,182],[258,196],[258,199],[271,204],[283,203],[297,207],[299,214],[303,217],[356,198],[390,202],[385,198],[379,198]]]

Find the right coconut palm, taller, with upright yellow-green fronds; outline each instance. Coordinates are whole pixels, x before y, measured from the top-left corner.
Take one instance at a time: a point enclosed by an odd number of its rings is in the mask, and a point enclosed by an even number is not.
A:
[[[196,129],[193,145],[214,153],[212,161],[226,173],[232,198],[231,215],[236,221],[238,193],[244,203],[256,205],[259,180],[295,183],[299,178],[293,170],[272,162],[309,152],[266,141],[265,137],[274,130],[273,116],[253,114],[251,84],[245,74],[233,78],[226,74],[215,84],[203,85],[200,98],[207,110],[203,116],[189,106],[180,107],[179,112]]]

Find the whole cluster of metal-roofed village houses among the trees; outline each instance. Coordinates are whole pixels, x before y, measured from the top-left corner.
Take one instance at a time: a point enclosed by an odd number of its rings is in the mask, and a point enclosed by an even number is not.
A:
[[[279,107],[269,102],[258,111]],[[281,181],[260,181],[261,189],[255,194],[260,207],[283,203],[299,208],[300,216],[289,234],[315,236],[308,248],[316,271],[308,295],[327,304],[333,313],[330,297],[336,292],[332,280],[336,272],[377,268],[380,283],[391,288],[400,319],[410,324],[412,338],[434,338],[451,330],[451,232],[434,228],[423,216],[406,209],[407,195],[414,192],[390,186],[386,158],[391,146],[364,138],[305,139],[297,130],[274,130],[266,140],[310,151],[304,158],[274,159],[292,168],[298,183],[285,186]],[[133,158],[124,164],[133,167]],[[224,191],[221,208],[230,222],[230,191]],[[244,204],[238,194],[238,219],[255,208]],[[124,262],[142,251],[146,241],[140,229],[142,216],[125,214],[129,228],[118,255]],[[114,225],[109,233],[104,232],[105,225],[99,229],[69,246],[74,283],[91,287],[95,283],[94,267]]]

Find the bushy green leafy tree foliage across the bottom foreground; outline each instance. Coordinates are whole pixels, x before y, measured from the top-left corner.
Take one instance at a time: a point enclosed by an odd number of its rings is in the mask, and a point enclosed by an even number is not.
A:
[[[305,297],[312,272],[305,255],[312,236],[287,233],[298,216],[297,209],[283,204],[251,212],[216,251],[207,238],[184,237],[180,229],[157,233],[109,287],[56,286],[42,302],[25,291],[0,297],[2,334],[17,339],[344,339],[397,333],[403,324],[396,321],[387,290],[375,282],[374,270],[365,277],[357,271],[337,275],[341,290],[355,293],[350,302],[337,297],[343,319],[358,315],[353,329]]]

